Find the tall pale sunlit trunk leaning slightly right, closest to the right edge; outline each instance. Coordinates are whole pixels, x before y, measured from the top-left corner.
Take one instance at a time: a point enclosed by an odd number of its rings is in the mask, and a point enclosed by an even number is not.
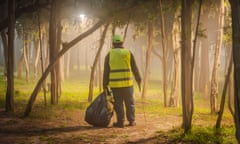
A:
[[[217,30],[217,42],[215,48],[215,59],[212,71],[211,81],[211,95],[210,95],[210,107],[211,113],[218,112],[218,68],[220,63],[220,53],[222,47],[223,38],[223,26],[224,26],[224,0],[219,2],[219,17],[218,17],[218,30]]]

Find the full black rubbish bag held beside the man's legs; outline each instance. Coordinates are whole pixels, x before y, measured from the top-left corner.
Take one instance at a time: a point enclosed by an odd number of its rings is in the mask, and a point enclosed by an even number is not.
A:
[[[111,96],[112,97],[112,96]],[[85,121],[96,127],[107,127],[113,116],[113,104],[109,95],[102,92],[87,107]]]

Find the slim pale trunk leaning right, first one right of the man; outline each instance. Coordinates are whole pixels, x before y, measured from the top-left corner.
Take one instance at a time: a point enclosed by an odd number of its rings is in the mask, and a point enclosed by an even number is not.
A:
[[[152,22],[149,22],[148,23],[148,48],[146,52],[146,63],[145,63],[145,71],[144,71],[144,77],[143,77],[142,98],[145,98],[147,93],[152,47],[153,47],[153,24]]]

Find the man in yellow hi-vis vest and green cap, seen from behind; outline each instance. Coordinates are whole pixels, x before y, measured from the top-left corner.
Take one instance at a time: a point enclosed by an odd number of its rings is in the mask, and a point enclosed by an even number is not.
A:
[[[123,48],[123,39],[120,35],[113,36],[113,48],[105,57],[103,72],[103,87],[110,87],[114,97],[114,110],[117,122],[114,127],[124,127],[125,104],[129,126],[135,126],[135,106],[133,98],[133,75],[140,88],[141,77],[133,54]]]

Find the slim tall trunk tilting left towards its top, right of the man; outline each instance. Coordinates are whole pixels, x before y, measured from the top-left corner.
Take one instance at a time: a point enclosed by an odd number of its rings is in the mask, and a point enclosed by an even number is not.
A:
[[[160,23],[161,23],[161,36],[162,36],[162,86],[163,86],[163,101],[164,101],[164,107],[167,107],[167,41],[166,41],[166,33],[165,33],[165,21],[163,17],[162,12],[162,3],[161,0],[159,0],[159,7],[160,7]]]

